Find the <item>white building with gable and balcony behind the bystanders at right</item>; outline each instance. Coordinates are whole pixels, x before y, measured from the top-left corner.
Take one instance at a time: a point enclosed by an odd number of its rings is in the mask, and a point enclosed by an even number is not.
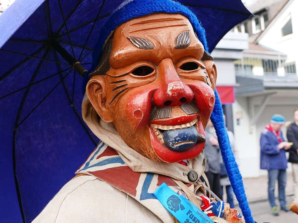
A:
[[[259,145],[265,125],[275,113],[292,121],[298,108],[298,0],[259,0],[246,7],[256,17],[232,29],[249,35],[248,49],[234,61],[232,110],[240,171],[243,177],[257,177],[266,174],[260,170]]]

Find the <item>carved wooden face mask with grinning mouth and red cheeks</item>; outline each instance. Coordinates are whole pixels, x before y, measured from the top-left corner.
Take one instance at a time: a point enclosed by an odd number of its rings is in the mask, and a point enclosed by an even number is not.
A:
[[[216,75],[188,19],[158,13],[115,30],[86,92],[131,148],[172,163],[203,150]]]

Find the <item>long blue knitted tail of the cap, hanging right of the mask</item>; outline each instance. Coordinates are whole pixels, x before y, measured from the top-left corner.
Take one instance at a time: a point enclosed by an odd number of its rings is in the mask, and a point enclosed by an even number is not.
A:
[[[254,223],[254,219],[252,218],[252,213],[250,211],[244,192],[242,176],[240,174],[238,165],[235,161],[235,157],[231,149],[223,115],[224,113],[221,107],[221,101],[219,99],[217,90],[215,90],[215,106],[210,119],[215,128],[216,135],[218,137],[219,147],[221,149],[221,155],[226,166],[226,171],[228,173],[234,194],[236,195],[236,198],[239,202],[239,207],[241,208],[245,222]]]

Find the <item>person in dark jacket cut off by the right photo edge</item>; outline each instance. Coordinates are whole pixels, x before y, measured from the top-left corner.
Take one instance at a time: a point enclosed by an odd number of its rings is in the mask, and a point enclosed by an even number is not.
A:
[[[289,150],[289,162],[292,163],[294,200],[298,201],[298,109],[294,111],[294,122],[288,127],[287,138],[293,143]]]

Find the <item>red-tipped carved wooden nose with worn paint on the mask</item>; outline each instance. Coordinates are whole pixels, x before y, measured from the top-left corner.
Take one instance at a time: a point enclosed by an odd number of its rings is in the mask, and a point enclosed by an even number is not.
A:
[[[170,58],[159,63],[157,73],[160,88],[154,93],[153,101],[158,107],[178,106],[193,100],[193,91],[180,80]]]

